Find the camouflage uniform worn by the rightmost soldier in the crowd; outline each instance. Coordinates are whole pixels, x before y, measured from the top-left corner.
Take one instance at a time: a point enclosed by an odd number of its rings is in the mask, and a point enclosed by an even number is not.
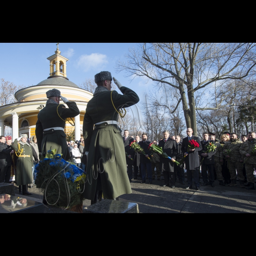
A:
[[[242,143],[240,147],[240,153],[242,155],[242,159],[245,161],[248,157],[246,157],[246,154],[251,154],[252,149],[256,145],[256,139],[253,139],[253,141],[246,140],[244,143]],[[245,162],[245,170],[246,170],[246,176],[247,181],[253,183],[254,187],[254,169],[256,169],[256,155],[251,155],[246,162]]]

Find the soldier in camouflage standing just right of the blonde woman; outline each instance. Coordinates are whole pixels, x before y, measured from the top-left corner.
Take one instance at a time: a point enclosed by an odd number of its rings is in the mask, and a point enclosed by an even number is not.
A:
[[[244,188],[244,174],[242,172],[242,157],[240,154],[240,146],[242,145],[241,140],[237,138],[236,133],[230,134],[230,141],[226,142],[223,146],[223,155],[227,159],[228,162],[228,168],[230,172],[230,179],[231,183],[228,184],[229,186],[236,186],[236,171],[237,171],[237,177],[240,182],[240,187]],[[230,156],[225,152],[225,150],[230,149],[231,153]]]

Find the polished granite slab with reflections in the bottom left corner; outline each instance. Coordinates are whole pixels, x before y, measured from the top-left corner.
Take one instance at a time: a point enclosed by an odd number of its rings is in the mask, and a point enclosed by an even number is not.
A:
[[[22,195],[0,195],[0,213],[44,213],[44,204],[26,199]]]

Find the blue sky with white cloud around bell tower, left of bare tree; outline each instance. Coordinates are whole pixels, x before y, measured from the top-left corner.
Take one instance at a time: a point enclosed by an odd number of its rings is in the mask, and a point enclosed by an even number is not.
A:
[[[60,43],[61,55],[67,57],[67,77],[75,84],[81,84],[86,78],[94,78],[100,71],[110,71],[112,76],[134,90],[143,99],[151,82],[145,84],[142,78],[131,83],[124,72],[116,74],[116,61],[124,59],[128,49],[137,47],[136,43]],[[36,85],[49,76],[49,60],[56,43],[1,43],[0,78],[15,85]],[[117,89],[118,90],[118,89]],[[119,92],[119,91],[118,91]]]

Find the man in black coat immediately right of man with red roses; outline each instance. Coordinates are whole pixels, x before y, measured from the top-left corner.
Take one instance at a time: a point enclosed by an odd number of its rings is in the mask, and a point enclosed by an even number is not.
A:
[[[216,149],[212,152],[206,153],[207,151],[207,146],[209,143],[215,144],[214,140],[208,140],[209,139],[209,134],[207,132],[203,133],[203,140],[201,140],[202,144],[202,150],[199,151],[199,155],[201,157],[200,162],[201,164],[201,170],[202,170],[202,176],[203,176],[203,182],[204,184],[202,186],[207,186],[208,185],[208,180],[207,180],[207,168],[210,173],[210,184],[211,187],[214,186],[214,154],[216,153]]]

